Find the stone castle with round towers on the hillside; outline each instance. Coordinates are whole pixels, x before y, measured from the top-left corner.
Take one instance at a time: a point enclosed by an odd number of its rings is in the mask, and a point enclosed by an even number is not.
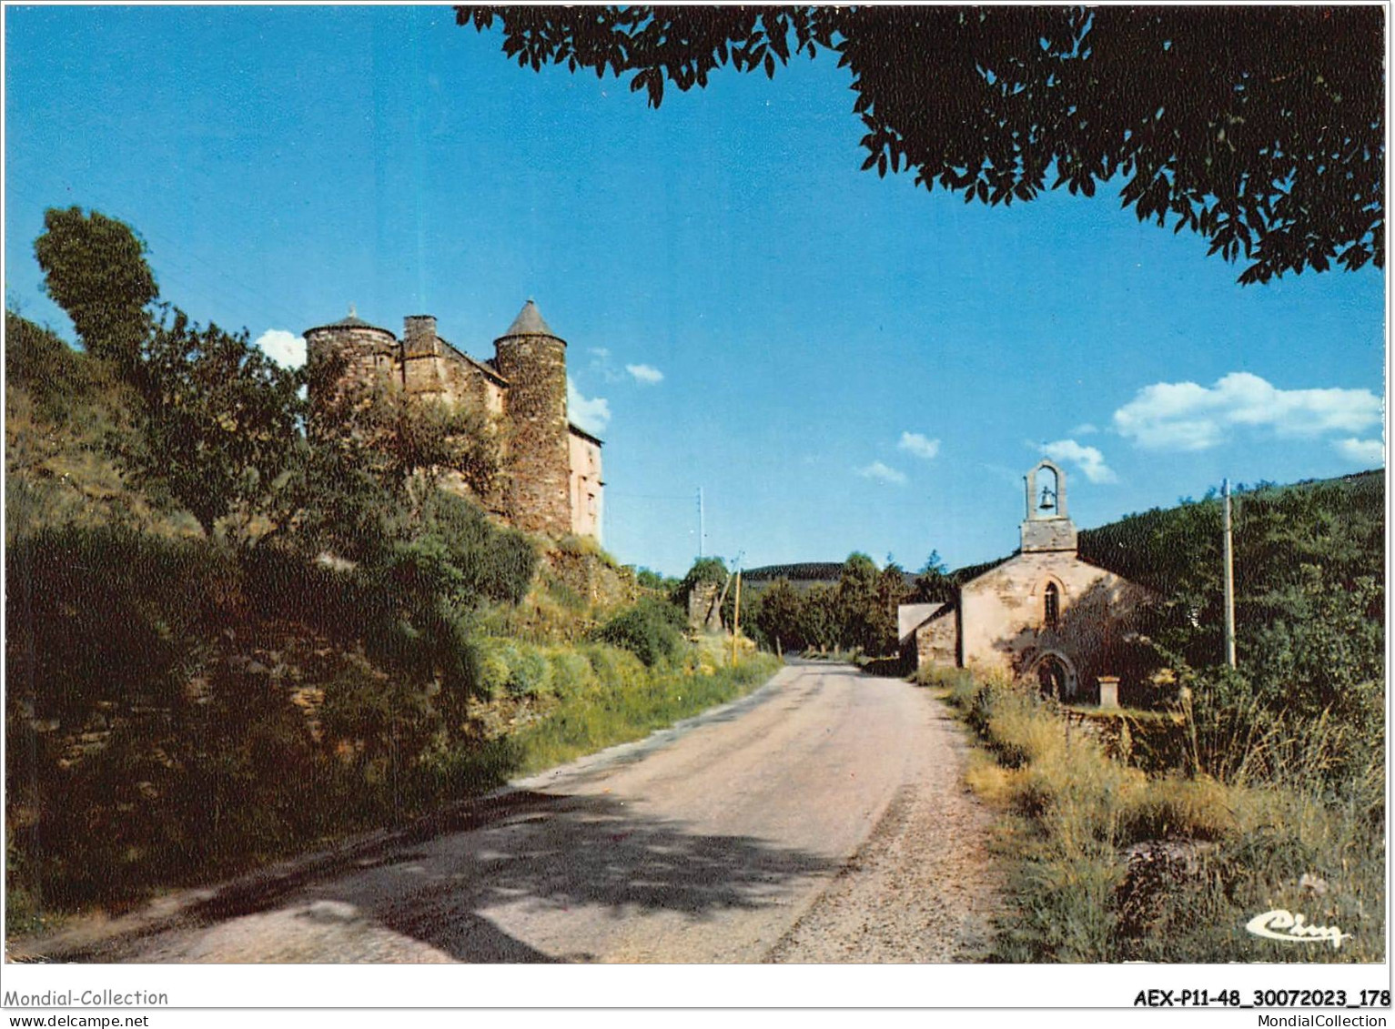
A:
[[[497,498],[477,499],[495,514],[529,533],[600,540],[601,441],[566,417],[566,342],[531,300],[485,361],[442,339],[432,315],[409,315],[400,340],[353,311],[304,335],[311,369],[335,363],[335,389],[386,382],[409,397],[483,411],[501,443],[504,482]]]

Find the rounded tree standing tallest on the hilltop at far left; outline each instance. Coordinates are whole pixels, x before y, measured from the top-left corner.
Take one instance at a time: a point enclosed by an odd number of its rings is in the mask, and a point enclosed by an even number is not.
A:
[[[86,351],[131,369],[151,330],[148,305],[159,296],[145,243],[100,212],[49,208],[33,254],[45,290],[73,319]]]

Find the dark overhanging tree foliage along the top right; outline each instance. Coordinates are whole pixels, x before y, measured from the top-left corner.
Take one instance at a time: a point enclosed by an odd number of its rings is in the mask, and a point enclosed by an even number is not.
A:
[[[877,174],[967,202],[1122,180],[1138,220],[1243,257],[1242,283],[1384,266],[1380,7],[458,7],[504,52],[706,86],[791,56],[852,74]]]

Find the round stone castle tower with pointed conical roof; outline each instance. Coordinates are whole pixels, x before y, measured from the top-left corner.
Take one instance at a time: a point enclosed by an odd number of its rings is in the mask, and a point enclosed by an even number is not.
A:
[[[572,530],[568,498],[566,342],[527,301],[494,340],[494,365],[509,381],[505,503],[509,520],[554,538]]]

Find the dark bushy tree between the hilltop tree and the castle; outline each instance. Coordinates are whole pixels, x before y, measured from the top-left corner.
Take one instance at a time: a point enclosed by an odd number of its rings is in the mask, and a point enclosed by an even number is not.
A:
[[[126,471],[193,513],[205,535],[234,512],[246,530],[296,452],[300,376],[251,346],[246,329],[201,328],[169,308],[131,378],[140,406],[119,448]]]

